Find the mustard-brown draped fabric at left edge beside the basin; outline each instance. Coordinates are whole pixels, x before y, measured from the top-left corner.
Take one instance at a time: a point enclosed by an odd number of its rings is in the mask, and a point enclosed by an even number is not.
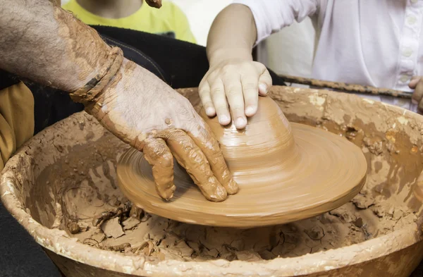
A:
[[[23,82],[0,90],[0,171],[34,135],[34,97]]]

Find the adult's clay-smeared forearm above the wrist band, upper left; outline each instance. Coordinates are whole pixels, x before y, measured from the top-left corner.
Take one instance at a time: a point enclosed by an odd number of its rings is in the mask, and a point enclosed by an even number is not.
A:
[[[0,3],[0,68],[72,92],[106,61],[110,47],[55,1]]]

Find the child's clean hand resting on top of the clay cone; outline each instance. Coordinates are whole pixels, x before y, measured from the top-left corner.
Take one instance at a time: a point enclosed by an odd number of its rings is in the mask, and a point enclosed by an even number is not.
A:
[[[199,92],[207,116],[217,114],[219,123],[228,125],[232,115],[236,128],[243,129],[246,116],[257,112],[259,94],[266,96],[270,88],[271,76],[262,63],[226,59],[209,68]]]

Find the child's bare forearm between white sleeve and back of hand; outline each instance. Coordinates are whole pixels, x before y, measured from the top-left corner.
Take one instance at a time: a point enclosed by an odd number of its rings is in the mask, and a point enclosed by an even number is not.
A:
[[[210,66],[224,59],[252,60],[252,46],[257,29],[250,8],[232,4],[214,20],[207,39],[207,56]]]

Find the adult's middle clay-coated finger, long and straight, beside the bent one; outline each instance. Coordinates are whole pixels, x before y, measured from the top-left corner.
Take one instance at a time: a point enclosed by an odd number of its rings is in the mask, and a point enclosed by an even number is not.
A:
[[[166,129],[158,134],[166,140],[173,156],[185,168],[204,197],[213,202],[226,199],[227,192],[214,176],[201,149],[183,130]]]

